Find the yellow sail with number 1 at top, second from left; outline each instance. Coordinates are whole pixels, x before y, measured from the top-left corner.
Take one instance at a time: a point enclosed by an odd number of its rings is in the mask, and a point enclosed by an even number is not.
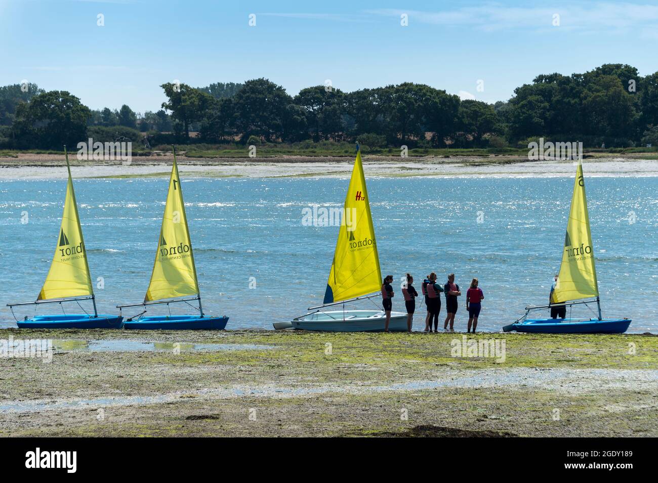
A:
[[[171,168],[169,192],[164,206],[163,225],[158,239],[151,283],[144,302],[199,293],[188,218],[178,176],[176,152]]]

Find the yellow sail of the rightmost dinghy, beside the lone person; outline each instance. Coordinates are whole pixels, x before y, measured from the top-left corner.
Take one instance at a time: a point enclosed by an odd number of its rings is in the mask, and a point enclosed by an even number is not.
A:
[[[582,162],[579,161],[565,234],[565,250],[551,303],[597,296],[599,296],[599,285],[594,267],[590,215],[587,210]]]

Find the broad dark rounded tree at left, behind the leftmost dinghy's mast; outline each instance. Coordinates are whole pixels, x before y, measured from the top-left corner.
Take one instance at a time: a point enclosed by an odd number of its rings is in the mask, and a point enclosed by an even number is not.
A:
[[[86,140],[91,111],[66,91],[49,91],[16,106],[14,139],[19,147],[69,149]]]

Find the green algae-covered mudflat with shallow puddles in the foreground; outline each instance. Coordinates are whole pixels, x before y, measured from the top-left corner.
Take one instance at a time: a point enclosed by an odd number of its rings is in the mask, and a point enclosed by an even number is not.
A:
[[[0,357],[2,436],[658,436],[655,336],[3,336],[58,342]]]

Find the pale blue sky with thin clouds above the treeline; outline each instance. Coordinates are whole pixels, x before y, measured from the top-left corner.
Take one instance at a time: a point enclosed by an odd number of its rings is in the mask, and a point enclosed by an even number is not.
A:
[[[658,70],[658,3],[647,1],[0,0],[0,36],[0,85],[138,112],[157,110],[159,85],[174,80],[265,77],[291,95],[326,80],[344,91],[413,81],[494,102],[537,74]]]

